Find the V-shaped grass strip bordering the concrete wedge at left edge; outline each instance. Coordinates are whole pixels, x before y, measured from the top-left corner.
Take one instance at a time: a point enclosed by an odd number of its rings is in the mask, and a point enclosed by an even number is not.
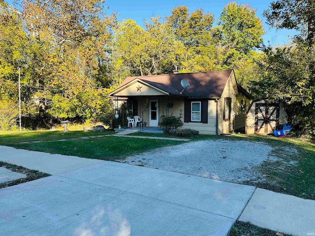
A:
[[[32,180],[35,180],[35,179],[38,179],[38,178],[43,178],[43,177],[50,176],[49,174],[42,173],[40,171],[30,170],[30,169],[25,168],[23,166],[9,164],[9,163],[3,162],[3,161],[0,161],[0,167],[9,169],[9,170],[11,170],[13,172],[18,172],[18,173],[22,173],[22,174],[26,175],[25,178],[19,178],[19,179],[13,180],[13,181],[0,183],[0,188],[5,188],[5,187],[13,186],[13,185],[16,185],[16,184],[32,181]]]

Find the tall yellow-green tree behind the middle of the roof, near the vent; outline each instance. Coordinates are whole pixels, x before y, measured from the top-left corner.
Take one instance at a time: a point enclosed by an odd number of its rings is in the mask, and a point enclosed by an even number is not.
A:
[[[211,29],[214,16],[196,9],[189,14],[187,6],[178,6],[166,17],[168,24],[176,36],[176,41],[183,46],[178,47],[177,65],[181,72],[213,70],[215,65],[215,47],[212,44]]]

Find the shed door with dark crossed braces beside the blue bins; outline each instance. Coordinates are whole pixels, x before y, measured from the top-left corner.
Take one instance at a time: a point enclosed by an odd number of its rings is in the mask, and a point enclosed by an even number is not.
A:
[[[278,104],[256,103],[255,134],[269,134],[279,124],[280,107]]]

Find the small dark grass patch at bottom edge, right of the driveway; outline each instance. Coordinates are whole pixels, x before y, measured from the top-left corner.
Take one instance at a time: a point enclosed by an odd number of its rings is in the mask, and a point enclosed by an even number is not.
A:
[[[276,231],[260,228],[248,222],[236,221],[228,236],[275,236],[276,233]],[[291,236],[284,233],[282,235]]]

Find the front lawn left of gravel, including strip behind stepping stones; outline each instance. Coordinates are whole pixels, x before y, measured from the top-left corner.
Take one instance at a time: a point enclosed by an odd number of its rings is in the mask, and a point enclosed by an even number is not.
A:
[[[14,133],[12,142],[10,135],[0,135],[0,145],[11,146],[35,151],[43,151],[53,154],[63,154],[71,156],[86,157],[115,161],[123,159],[129,155],[141,153],[154,148],[161,148],[169,145],[179,145],[183,142],[170,140],[140,139],[116,136],[105,136],[90,139],[77,139],[67,141],[57,141],[58,139],[68,139],[75,137],[87,137],[113,134],[112,131],[105,132],[30,132],[22,133],[21,137]],[[1,134],[1,133],[0,133]],[[27,143],[30,141],[55,140],[53,142]]]

